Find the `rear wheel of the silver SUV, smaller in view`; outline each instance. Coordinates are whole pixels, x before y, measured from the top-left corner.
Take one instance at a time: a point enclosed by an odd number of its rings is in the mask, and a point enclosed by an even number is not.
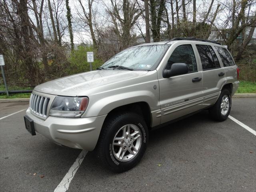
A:
[[[231,103],[230,91],[223,89],[217,102],[209,109],[211,118],[217,121],[226,120],[231,110]]]

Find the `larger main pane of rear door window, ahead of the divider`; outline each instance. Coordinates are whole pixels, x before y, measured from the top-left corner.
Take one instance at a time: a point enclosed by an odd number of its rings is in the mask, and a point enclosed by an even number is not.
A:
[[[199,52],[203,70],[215,68],[212,54],[207,45],[196,45]]]

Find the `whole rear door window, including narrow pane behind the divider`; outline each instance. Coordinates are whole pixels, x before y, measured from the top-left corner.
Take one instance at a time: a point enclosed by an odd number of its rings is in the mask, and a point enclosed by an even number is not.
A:
[[[220,67],[218,58],[212,50],[212,47],[207,45],[196,45],[198,50],[203,70],[209,70]],[[212,50],[212,51],[211,51]]]

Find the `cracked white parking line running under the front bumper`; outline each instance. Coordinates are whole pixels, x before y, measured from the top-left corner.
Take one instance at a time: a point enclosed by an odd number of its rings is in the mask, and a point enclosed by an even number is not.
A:
[[[70,167],[67,174],[64,176],[60,184],[56,187],[54,192],[66,192],[68,190],[69,184],[72,181],[73,177],[75,176],[79,166],[82,164],[86,154],[87,154],[87,151],[82,150],[82,152],[78,155],[78,158],[76,158],[76,161]]]

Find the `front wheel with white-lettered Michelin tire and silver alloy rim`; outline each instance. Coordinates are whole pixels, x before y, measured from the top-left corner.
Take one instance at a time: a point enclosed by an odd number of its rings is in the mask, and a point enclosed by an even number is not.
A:
[[[124,172],[141,160],[148,144],[144,119],[133,112],[110,116],[102,127],[98,156],[114,172]]]

